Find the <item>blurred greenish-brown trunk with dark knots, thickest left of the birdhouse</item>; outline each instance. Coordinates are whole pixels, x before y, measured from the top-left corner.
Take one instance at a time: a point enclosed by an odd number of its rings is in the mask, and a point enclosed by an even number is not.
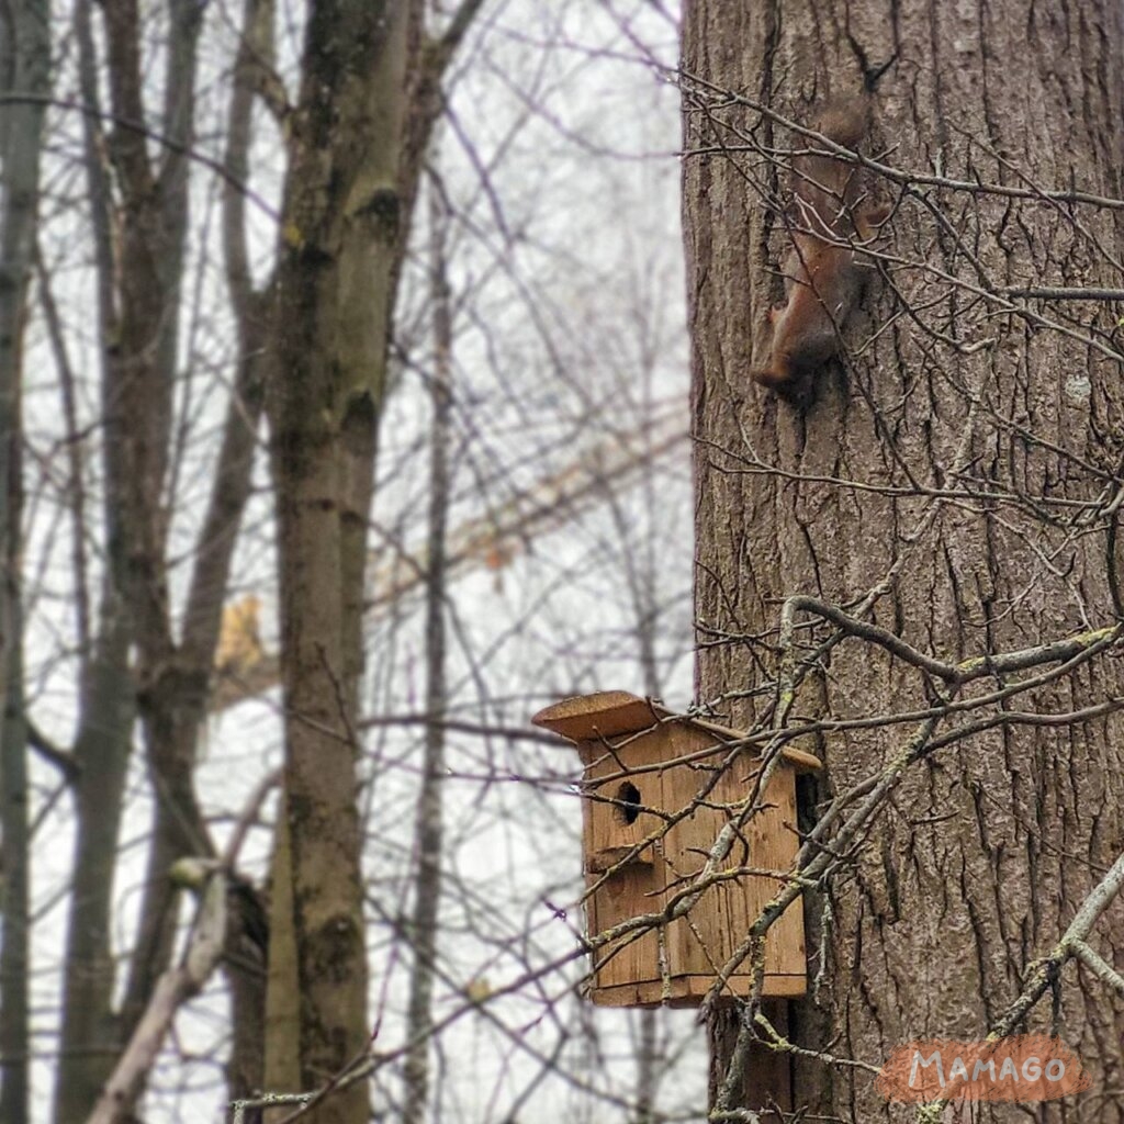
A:
[[[441,79],[481,2],[465,0],[434,39],[423,34],[419,0],[309,6],[289,118],[266,395],[285,699],[268,997],[271,1091],[333,1086],[363,1058],[371,1033],[355,754],[375,438]],[[351,1085],[311,1115],[318,1124],[354,1124],[366,1120],[366,1100],[364,1086]]]

